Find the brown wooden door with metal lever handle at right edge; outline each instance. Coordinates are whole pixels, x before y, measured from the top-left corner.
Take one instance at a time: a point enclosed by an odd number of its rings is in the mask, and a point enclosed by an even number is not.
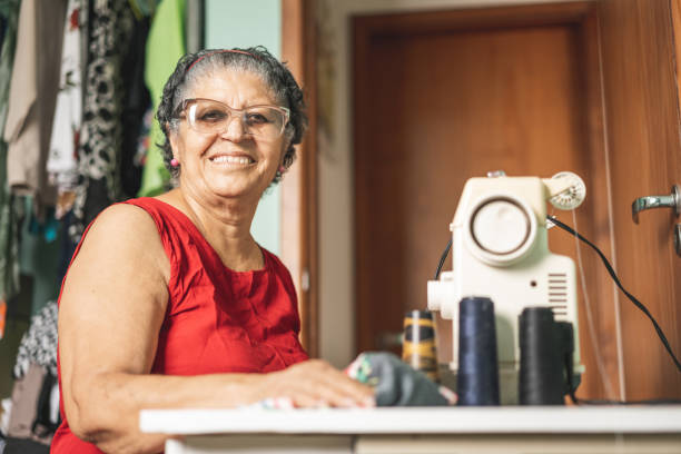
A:
[[[681,184],[671,12],[670,0],[599,2],[616,268],[680,355],[681,258],[671,241],[680,220],[669,209],[631,219],[636,197]],[[651,323],[621,294],[620,310],[626,399],[681,397],[681,373]]]

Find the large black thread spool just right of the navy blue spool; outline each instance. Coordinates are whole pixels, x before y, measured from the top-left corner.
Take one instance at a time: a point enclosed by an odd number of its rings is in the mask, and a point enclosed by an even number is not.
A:
[[[525,307],[519,317],[521,405],[564,405],[562,329],[550,307]]]

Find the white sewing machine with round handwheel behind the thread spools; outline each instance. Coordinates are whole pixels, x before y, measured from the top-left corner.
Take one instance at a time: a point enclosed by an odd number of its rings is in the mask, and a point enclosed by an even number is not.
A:
[[[549,306],[559,322],[574,327],[574,375],[580,363],[576,277],[570,257],[549,250],[546,201],[559,209],[576,208],[585,196],[572,172],[552,178],[471,178],[464,186],[452,231],[452,270],[427,284],[428,309],[453,324],[453,358],[458,368],[458,303],[465,296],[494,302],[502,404],[517,404],[520,365],[519,315],[527,306]]]

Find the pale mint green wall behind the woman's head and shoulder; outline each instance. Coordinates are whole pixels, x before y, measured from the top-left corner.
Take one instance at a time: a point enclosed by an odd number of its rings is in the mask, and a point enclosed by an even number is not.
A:
[[[280,0],[206,0],[208,49],[265,46],[282,56]],[[251,226],[256,241],[274,254],[280,251],[280,199],[278,186],[265,193]]]

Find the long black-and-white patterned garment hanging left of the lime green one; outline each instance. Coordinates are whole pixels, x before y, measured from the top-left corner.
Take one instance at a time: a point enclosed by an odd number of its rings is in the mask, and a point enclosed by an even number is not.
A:
[[[89,11],[88,65],[78,149],[79,184],[69,235],[80,240],[85,226],[121,198],[120,121],[125,89],[122,62],[129,49],[135,17],[128,2],[95,0]]]

